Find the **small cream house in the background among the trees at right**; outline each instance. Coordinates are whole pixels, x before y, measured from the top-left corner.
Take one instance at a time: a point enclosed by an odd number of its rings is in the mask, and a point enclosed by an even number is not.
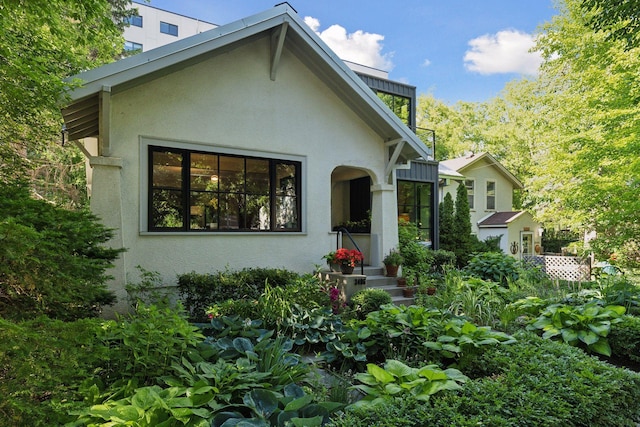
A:
[[[470,154],[439,164],[440,200],[467,187],[471,231],[478,239],[502,236],[500,248],[522,259],[540,251],[541,224],[525,211],[513,210],[513,192],[522,183],[490,153]]]

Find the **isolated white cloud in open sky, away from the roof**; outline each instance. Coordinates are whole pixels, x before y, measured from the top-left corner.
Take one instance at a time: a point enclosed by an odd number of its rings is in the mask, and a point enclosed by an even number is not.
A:
[[[542,63],[531,34],[504,30],[485,34],[469,41],[471,49],[464,55],[465,67],[480,74],[520,73],[535,75]]]

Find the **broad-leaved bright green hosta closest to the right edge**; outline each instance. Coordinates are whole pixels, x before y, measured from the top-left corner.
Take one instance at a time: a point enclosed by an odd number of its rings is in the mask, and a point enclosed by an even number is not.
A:
[[[560,338],[570,345],[583,344],[589,351],[611,356],[607,335],[611,324],[622,321],[625,308],[601,306],[598,301],[578,306],[552,304],[527,326],[542,332],[543,338]]]

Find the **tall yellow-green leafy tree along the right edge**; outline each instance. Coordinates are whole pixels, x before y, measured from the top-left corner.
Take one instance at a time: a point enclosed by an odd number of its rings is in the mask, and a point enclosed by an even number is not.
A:
[[[619,248],[640,241],[640,48],[594,32],[592,18],[566,0],[538,38],[538,96],[554,117],[534,190],[552,189],[539,200]]]

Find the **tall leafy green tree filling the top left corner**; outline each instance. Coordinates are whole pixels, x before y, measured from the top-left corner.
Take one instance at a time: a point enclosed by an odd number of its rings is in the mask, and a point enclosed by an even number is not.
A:
[[[0,182],[29,179],[60,143],[65,78],[122,51],[124,0],[10,0],[0,6]],[[53,150],[55,151],[55,150]]]

